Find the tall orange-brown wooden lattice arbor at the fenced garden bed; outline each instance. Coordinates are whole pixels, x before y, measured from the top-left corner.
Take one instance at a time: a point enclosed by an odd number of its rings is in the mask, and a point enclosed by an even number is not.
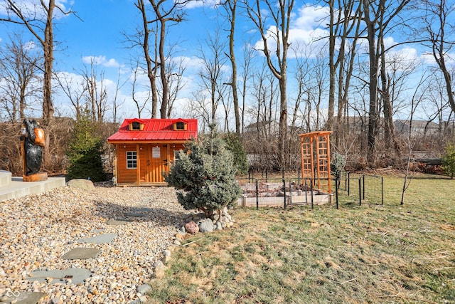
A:
[[[304,179],[311,179],[313,189],[331,193],[330,173],[331,131],[316,131],[299,135],[301,170]]]

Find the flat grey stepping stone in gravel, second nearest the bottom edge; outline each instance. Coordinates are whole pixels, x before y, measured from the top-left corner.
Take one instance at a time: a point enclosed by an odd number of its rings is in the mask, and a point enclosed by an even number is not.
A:
[[[93,273],[85,268],[68,268],[63,271],[33,271],[27,281],[44,282],[46,278],[52,278],[52,283],[66,283],[68,279],[73,284],[84,283]]]

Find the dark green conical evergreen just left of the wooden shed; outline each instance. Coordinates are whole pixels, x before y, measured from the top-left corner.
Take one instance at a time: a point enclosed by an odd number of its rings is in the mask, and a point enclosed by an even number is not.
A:
[[[66,179],[90,179],[92,182],[106,180],[102,162],[102,139],[97,124],[92,122],[89,111],[83,111],[76,122],[73,137],[68,145],[67,157],[70,162]]]

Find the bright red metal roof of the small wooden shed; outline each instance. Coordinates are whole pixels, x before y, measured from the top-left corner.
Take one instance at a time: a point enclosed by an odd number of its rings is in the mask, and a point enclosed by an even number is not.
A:
[[[140,122],[144,124],[144,129],[129,130],[131,122]],[[175,122],[184,122],[187,124],[186,130],[173,130]],[[198,120],[196,119],[138,119],[129,118],[123,121],[122,126],[114,135],[107,138],[107,142],[126,142],[126,141],[186,141],[198,137]]]

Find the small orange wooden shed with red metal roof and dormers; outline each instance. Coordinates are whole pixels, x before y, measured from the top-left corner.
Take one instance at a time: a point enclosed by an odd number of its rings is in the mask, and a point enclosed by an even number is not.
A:
[[[126,119],[107,142],[114,145],[114,184],[166,185],[183,145],[198,137],[196,119]]]

